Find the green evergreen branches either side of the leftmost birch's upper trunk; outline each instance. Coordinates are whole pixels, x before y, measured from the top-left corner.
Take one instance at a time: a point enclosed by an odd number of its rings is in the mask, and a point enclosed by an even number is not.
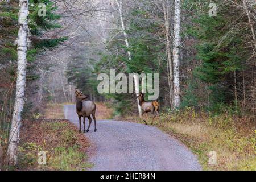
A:
[[[46,16],[39,16],[38,11],[42,9],[39,3],[46,5]],[[0,56],[5,57],[1,62],[7,64],[6,61],[16,61],[16,45],[14,44],[18,35],[18,3],[16,2],[1,2],[0,20],[3,23],[3,28],[0,30],[0,35],[3,37],[3,42],[0,43]],[[60,28],[56,24],[56,20],[60,19],[60,15],[56,14],[57,6],[50,0],[31,0],[28,15],[28,27],[30,28],[32,47],[28,49],[27,60],[31,62],[40,53],[40,49],[53,48],[67,38],[43,38],[44,31],[49,31],[54,28]],[[2,24],[1,23],[1,24]]]

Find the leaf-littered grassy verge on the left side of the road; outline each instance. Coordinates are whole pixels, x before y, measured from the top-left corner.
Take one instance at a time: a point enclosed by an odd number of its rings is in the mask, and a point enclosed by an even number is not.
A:
[[[23,121],[19,144],[20,170],[86,170],[89,142],[72,123],[63,119]],[[46,164],[39,164],[39,152],[46,152]]]

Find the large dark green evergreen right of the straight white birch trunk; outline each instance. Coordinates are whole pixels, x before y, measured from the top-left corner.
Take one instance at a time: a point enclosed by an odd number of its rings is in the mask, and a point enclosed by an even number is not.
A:
[[[221,1],[215,3],[218,5]],[[242,46],[242,42],[246,39],[246,30],[241,31],[236,27],[237,21],[241,19],[230,13],[232,6],[227,4],[225,7],[218,7],[217,16],[210,17],[208,4],[208,1],[184,2],[185,9],[193,14],[192,24],[187,26],[185,33],[197,39],[196,59],[201,63],[193,70],[195,77],[192,82],[199,78],[208,85],[205,88],[205,91],[209,91],[210,103],[207,109],[219,113],[223,111],[221,106],[233,104],[234,74],[239,81],[238,76],[246,68],[245,60],[249,59],[250,51]],[[187,101],[189,97],[193,102],[192,105],[196,104],[196,100],[201,101],[201,96],[196,96],[193,91],[199,87],[200,84],[185,91],[183,98],[185,105],[191,105]],[[192,96],[193,94],[195,95]]]

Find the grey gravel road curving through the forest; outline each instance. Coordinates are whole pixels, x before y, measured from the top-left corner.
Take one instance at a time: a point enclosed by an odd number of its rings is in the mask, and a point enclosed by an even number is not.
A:
[[[79,126],[75,105],[64,105],[64,114]],[[88,119],[86,129],[87,126]],[[92,170],[201,170],[188,148],[156,127],[100,120],[97,132],[93,130],[92,122],[90,131],[85,133],[96,147],[90,158]]]

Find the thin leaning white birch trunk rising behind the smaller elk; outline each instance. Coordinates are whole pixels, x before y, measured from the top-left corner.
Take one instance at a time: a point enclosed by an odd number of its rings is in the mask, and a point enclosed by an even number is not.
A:
[[[115,0],[115,2],[117,3],[118,10],[119,10],[119,16],[120,16],[121,26],[122,26],[122,30],[123,30],[123,36],[125,37],[125,44],[126,44],[126,47],[129,48],[129,42],[128,42],[128,39],[127,39],[127,34],[125,32],[125,23],[123,22],[122,1]],[[131,60],[131,52],[127,51],[127,53],[128,53],[129,60]],[[137,77],[135,75],[134,75],[134,86],[135,86],[136,96],[139,96],[139,90],[136,89],[136,88],[139,88],[139,81],[137,81]],[[142,110],[141,110],[141,105],[139,105],[139,99],[138,98],[137,98],[137,104],[138,104],[139,117],[141,118],[142,117]]]

